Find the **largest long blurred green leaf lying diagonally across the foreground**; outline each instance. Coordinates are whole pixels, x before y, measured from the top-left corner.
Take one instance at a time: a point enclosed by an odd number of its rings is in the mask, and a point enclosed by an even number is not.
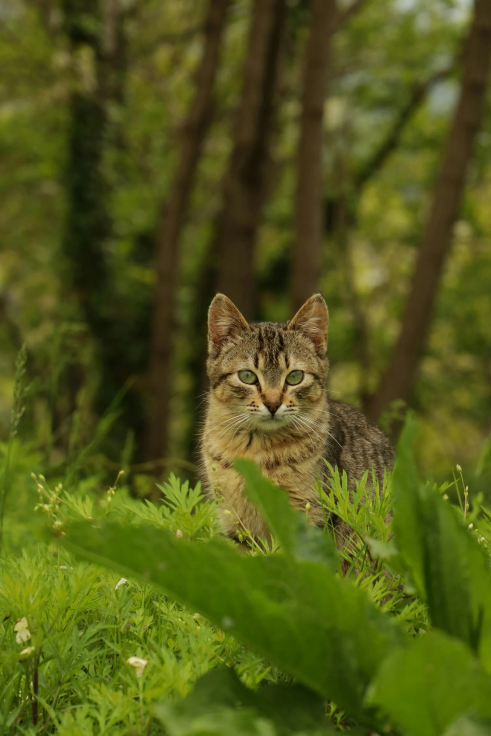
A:
[[[163,529],[108,522],[74,524],[63,544],[152,581],[367,723],[364,691],[386,654],[406,643],[363,591],[324,564],[244,555],[222,540],[188,542]]]

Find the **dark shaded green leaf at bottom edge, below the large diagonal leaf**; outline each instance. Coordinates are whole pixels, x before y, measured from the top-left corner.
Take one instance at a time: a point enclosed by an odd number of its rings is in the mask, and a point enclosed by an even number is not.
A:
[[[272,684],[257,692],[245,687],[230,668],[211,670],[181,701],[155,709],[170,736],[230,734],[283,736],[325,734],[333,724],[324,703],[301,685]]]

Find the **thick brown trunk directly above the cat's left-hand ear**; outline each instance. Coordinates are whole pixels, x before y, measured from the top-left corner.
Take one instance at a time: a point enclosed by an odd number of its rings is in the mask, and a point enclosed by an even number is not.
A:
[[[255,316],[254,244],[272,132],[285,0],[255,0],[218,238],[219,291]]]

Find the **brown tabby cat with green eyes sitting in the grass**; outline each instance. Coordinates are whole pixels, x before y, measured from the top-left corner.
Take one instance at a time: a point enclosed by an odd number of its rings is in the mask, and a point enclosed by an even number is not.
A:
[[[257,462],[317,526],[325,514],[314,484],[323,459],[347,474],[354,489],[373,468],[380,484],[392,467],[389,439],[358,409],[328,398],[328,308],[314,294],[286,324],[248,324],[224,294],[208,311],[208,406],[201,438],[206,492],[219,502],[223,530],[269,539],[261,514],[242,493],[237,457]],[[338,544],[348,532],[340,520]]]

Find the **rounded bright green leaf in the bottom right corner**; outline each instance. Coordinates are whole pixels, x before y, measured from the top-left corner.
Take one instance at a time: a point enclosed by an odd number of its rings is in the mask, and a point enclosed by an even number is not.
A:
[[[462,715],[491,718],[491,677],[464,643],[431,631],[387,657],[367,701],[411,736],[439,736]]]

